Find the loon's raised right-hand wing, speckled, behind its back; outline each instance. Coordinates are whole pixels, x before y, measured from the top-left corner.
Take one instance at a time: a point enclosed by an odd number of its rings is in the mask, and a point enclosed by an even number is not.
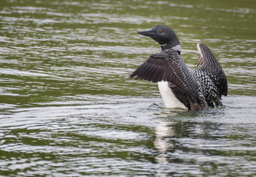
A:
[[[221,68],[221,65],[218,63],[218,60],[212,54],[212,51],[205,44],[199,43],[202,56],[199,56],[196,61],[196,65],[200,66],[198,69],[207,73],[207,75],[212,80],[212,83],[215,84],[220,95],[227,95],[227,80],[226,75]]]

